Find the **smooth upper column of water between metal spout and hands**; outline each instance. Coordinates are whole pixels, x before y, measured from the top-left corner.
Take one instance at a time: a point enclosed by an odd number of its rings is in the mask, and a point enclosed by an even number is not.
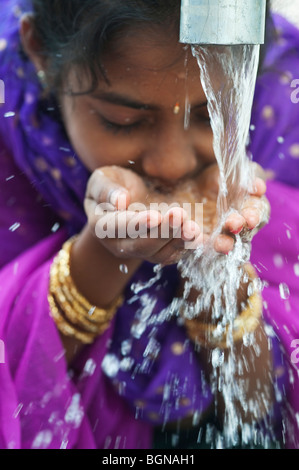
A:
[[[220,170],[219,214],[240,208],[252,188],[246,155],[259,46],[194,46]]]

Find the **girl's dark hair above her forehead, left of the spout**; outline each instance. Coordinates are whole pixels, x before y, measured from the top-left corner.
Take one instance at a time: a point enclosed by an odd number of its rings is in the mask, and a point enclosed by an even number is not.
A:
[[[35,30],[50,84],[61,88],[73,65],[90,74],[93,89],[107,45],[128,26],[165,25],[179,31],[180,0],[33,0]]]

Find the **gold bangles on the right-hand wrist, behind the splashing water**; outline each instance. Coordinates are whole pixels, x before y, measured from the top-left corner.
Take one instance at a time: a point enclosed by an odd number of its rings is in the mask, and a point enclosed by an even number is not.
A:
[[[246,272],[253,280],[254,268],[246,265]],[[219,333],[217,324],[203,323],[198,317],[184,318],[185,327],[190,339],[207,348],[226,349],[235,342],[243,339],[245,334],[253,333],[260,324],[262,315],[262,298],[256,291],[248,298],[245,309],[238,315],[232,324],[226,325]]]

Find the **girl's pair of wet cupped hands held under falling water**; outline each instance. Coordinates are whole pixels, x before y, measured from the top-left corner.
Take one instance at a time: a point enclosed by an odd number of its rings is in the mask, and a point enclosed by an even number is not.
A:
[[[175,263],[186,249],[202,246],[215,229],[218,180],[215,164],[202,171],[197,179],[161,193],[132,170],[102,167],[91,175],[87,187],[84,207],[89,226],[115,256]],[[262,178],[256,177],[254,188],[241,210],[229,214],[221,233],[215,237],[217,252],[230,252],[236,234],[253,235],[266,223],[269,205]],[[194,202],[203,203],[203,226],[196,218],[192,220],[190,212],[183,208],[184,203]]]

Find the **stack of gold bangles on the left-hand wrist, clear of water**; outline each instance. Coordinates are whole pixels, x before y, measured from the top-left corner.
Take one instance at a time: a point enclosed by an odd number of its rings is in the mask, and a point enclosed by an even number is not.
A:
[[[64,243],[50,269],[48,301],[51,315],[59,331],[85,344],[92,343],[110,325],[123,302],[120,296],[108,309],[92,305],[78,292],[70,275],[70,252],[74,242]]]

